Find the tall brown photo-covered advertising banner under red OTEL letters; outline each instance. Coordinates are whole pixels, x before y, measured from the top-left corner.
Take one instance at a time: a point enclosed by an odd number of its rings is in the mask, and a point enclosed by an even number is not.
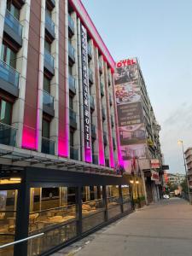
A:
[[[132,163],[146,158],[147,147],[136,58],[116,62],[114,83],[120,150],[125,172],[132,173]]]

